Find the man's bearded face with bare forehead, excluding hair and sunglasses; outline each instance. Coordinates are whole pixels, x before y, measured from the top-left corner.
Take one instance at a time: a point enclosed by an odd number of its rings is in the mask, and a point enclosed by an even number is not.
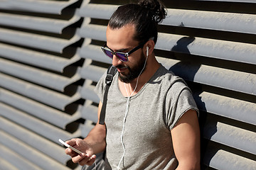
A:
[[[133,35],[135,33],[134,25],[127,24],[119,29],[107,28],[107,47],[113,52],[129,52],[139,45],[137,40],[134,40]],[[153,41],[153,40],[151,40]],[[154,42],[153,42],[154,43]],[[146,61],[143,49],[132,52],[129,55],[127,62],[122,62],[116,55],[112,58],[112,65],[117,67],[119,72],[119,79],[125,83],[129,83],[136,79]]]

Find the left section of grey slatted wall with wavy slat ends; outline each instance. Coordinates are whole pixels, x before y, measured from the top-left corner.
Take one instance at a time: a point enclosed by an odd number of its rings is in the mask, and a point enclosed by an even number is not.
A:
[[[58,139],[93,127],[81,119],[81,2],[0,1],[0,169],[80,168]]]

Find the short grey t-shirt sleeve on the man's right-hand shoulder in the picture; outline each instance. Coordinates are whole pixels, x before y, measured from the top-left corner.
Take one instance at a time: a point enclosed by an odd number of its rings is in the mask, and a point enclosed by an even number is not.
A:
[[[172,130],[181,116],[190,109],[199,113],[191,90],[182,81],[178,81],[171,86],[166,95],[165,120],[169,130]]]

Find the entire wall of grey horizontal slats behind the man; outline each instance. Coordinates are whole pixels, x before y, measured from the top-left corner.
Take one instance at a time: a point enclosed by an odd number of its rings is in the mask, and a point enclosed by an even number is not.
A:
[[[0,1],[0,169],[80,169],[58,139],[97,121],[107,20],[129,1]],[[256,169],[255,1],[166,1],[157,60],[200,108],[202,169]]]

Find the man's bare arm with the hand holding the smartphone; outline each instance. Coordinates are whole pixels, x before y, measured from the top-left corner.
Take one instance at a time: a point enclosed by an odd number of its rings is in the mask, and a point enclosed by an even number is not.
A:
[[[68,145],[75,147],[76,149],[83,152],[82,154],[77,154],[73,152],[71,149],[65,149],[65,153],[72,157],[72,161],[74,163],[79,163],[80,165],[92,165],[95,162],[95,155],[97,153],[103,152],[106,147],[106,128],[105,125],[100,125],[100,111],[102,109],[102,103],[99,103],[98,107],[98,122],[95,125],[87,137],[84,140],[81,139],[72,139],[68,140]]]

